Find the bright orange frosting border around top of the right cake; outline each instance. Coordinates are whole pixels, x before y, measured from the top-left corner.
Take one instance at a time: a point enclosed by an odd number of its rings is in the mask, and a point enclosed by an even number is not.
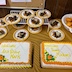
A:
[[[45,63],[45,64],[56,64],[56,65],[70,65],[72,66],[72,62],[58,62],[58,61],[50,61],[50,62],[47,62],[45,61],[45,56],[44,56],[44,43],[54,43],[54,42],[42,42],[42,61]],[[55,42],[57,44],[61,44],[61,43],[64,43],[64,44],[72,44],[72,42]],[[55,44],[54,43],[54,44]]]

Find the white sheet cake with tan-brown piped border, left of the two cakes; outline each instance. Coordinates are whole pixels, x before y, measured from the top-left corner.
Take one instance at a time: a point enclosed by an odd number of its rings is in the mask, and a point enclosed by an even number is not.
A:
[[[0,68],[32,67],[32,46],[30,42],[0,43]]]

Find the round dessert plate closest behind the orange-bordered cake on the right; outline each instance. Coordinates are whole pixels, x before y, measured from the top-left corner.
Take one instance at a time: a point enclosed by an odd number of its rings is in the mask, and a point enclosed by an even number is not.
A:
[[[65,34],[60,29],[52,29],[49,32],[49,37],[55,41],[61,41],[65,38]]]

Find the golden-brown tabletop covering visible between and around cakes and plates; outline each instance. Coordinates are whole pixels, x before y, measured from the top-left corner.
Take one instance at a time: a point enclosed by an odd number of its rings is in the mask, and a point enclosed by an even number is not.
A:
[[[47,33],[47,26],[42,27],[43,30],[39,34],[31,34],[29,38],[26,41],[31,41],[34,46],[34,54],[33,54],[33,67],[29,69],[0,69],[0,72],[72,72],[71,69],[52,69],[52,68],[41,68],[40,67],[40,44],[42,41],[53,41],[50,39],[48,33]],[[24,28],[27,29],[27,26]],[[8,27],[8,34],[6,37],[0,40],[2,41],[10,41],[13,39],[13,33],[16,29],[14,29],[12,26]],[[72,34],[68,32],[63,26],[61,27],[61,30],[65,33],[65,39],[62,42],[72,42]],[[54,41],[55,42],[55,41]]]

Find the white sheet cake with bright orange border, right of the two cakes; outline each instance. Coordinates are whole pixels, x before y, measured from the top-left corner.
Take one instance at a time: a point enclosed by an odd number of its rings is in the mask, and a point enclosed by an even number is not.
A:
[[[42,42],[41,67],[72,68],[72,42]]]

